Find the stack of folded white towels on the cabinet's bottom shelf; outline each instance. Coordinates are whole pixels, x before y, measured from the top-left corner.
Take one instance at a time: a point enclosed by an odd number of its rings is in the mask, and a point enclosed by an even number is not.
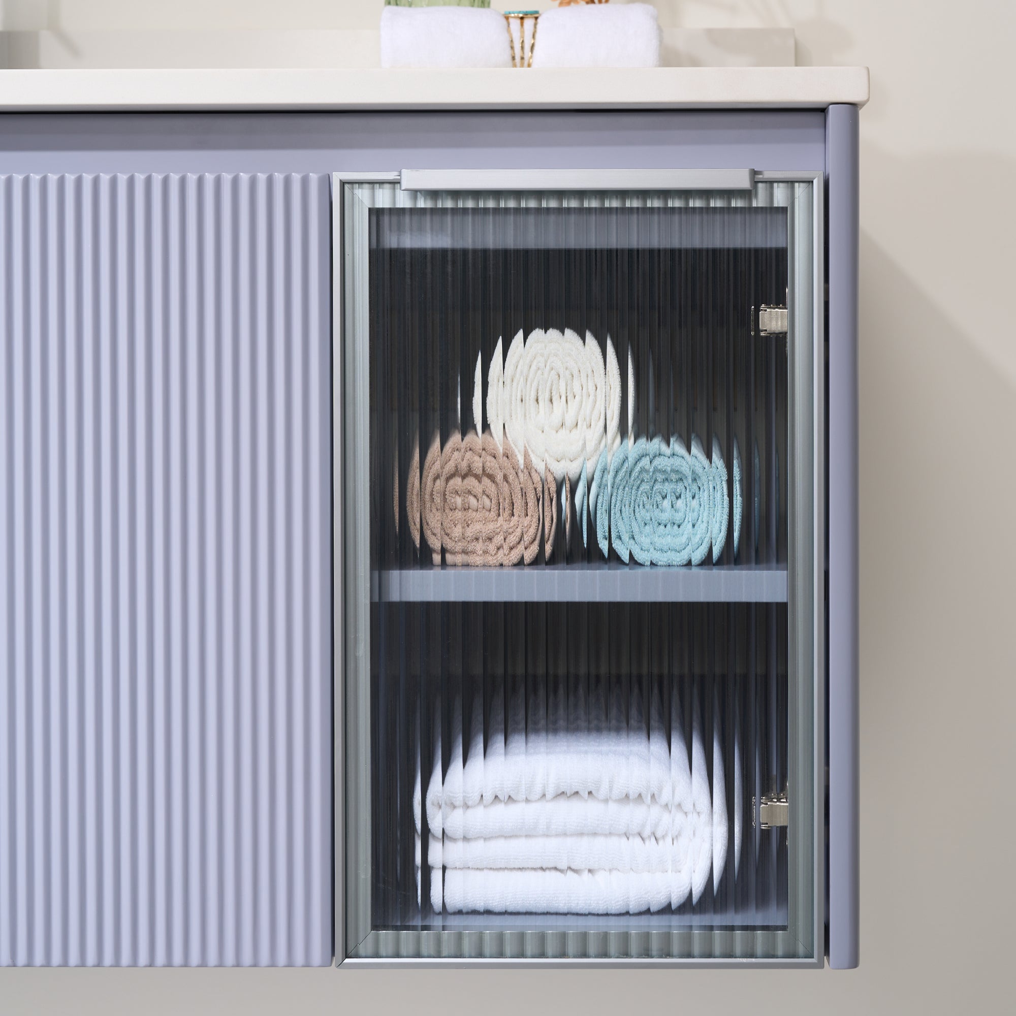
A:
[[[668,736],[651,684],[533,682],[528,702],[521,687],[496,690],[486,748],[478,698],[468,744],[461,722],[452,731],[446,771],[435,739],[426,798],[417,773],[418,897],[424,865],[439,913],[639,913],[697,902],[710,874],[718,886],[727,848],[718,727],[710,792],[697,701],[689,756],[679,696]]]

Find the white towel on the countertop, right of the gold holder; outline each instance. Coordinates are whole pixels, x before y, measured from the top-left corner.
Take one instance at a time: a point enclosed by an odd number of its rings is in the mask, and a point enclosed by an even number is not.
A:
[[[658,67],[659,23],[647,3],[576,4],[545,11],[533,67]]]

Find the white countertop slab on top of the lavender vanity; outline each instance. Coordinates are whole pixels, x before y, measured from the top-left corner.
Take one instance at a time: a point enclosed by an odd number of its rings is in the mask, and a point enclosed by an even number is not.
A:
[[[867,67],[0,70],[0,111],[824,109]]]

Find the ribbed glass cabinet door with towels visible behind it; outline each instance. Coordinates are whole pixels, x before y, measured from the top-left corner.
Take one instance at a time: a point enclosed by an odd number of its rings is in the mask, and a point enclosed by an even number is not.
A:
[[[820,954],[814,182],[339,186],[342,955]]]

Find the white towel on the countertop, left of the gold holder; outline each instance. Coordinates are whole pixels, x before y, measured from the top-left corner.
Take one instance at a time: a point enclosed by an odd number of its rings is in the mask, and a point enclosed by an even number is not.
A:
[[[385,7],[382,67],[511,67],[504,15],[475,7]]]

